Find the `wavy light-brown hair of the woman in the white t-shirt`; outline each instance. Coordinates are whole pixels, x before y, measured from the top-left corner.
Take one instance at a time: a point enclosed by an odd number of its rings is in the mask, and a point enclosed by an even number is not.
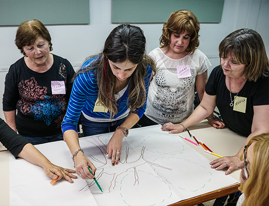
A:
[[[176,32],[178,34],[187,31],[190,35],[190,43],[186,51],[192,54],[199,46],[199,30],[200,22],[191,11],[178,10],[171,13],[168,21],[164,22],[162,28],[162,35],[160,37],[161,48],[170,44],[171,34]]]

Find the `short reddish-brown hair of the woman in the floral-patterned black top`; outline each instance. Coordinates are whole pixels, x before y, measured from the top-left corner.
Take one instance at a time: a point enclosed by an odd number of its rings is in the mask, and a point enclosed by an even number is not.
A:
[[[23,51],[23,47],[28,46],[28,45],[33,45],[35,40],[39,36],[48,42],[49,49],[50,51],[52,51],[52,43],[51,43],[50,34],[47,28],[45,27],[45,25],[41,21],[37,19],[33,19],[33,20],[22,22],[17,29],[16,38],[15,38],[15,44],[20,50],[20,53],[25,55],[25,52]]]

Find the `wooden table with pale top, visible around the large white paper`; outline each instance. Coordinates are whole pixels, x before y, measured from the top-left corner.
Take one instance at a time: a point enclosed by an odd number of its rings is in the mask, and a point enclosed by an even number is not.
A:
[[[215,129],[208,124],[206,120],[189,127],[189,130],[193,135],[200,141],[203,141],[214,153],[221,156],[231,156],[235,155],[241,146],[244,144],[246,137],[242,137],[228,128]],[[180,133],[181,135],[190,139],[187,132]],[[180,135],[178,134],[178,135]],[[216,156],[205,153],[204,149],[199,146],[185,141],[189,146],[194,148],[200,154],[205,156],[210,161],[216,159]],[[0,145],[0,151],[4,148]],[[9,205],[9,152],[0,152],[0,206]],[[240,170],[233,171],[230,176],[239,181]],[[204,203],[219,197],[223,197],[238,191],[239,184],[232,186],[227,186],[225,188],[212,191],[194,198],[180,201],[178,203],[172,204],[171,206],[193,206],[200,203]]]

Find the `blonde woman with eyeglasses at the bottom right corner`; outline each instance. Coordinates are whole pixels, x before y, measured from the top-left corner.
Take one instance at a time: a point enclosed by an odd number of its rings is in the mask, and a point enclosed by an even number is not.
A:
[[[250,139],[238,164],[243,194],[237,206],[269,206],[269,133]]]

